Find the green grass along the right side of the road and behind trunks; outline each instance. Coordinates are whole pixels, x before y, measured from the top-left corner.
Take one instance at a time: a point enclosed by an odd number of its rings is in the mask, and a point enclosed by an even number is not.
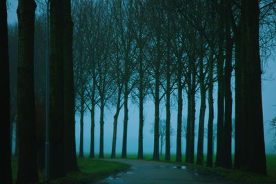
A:
[[[117,155],[116,157],[120,158],[120,155]],[[106,158],[110,158],[110,155],[106,155]],[[137,159],[137,155],[130,154],[128,155],[128,159]],[[144,154],[144,159],[151,160],[152,155]],[[165,161],[165,156],[164,155],[160,156],[160,161],[162,162],[186,165],[188,169],[196,170],[197,172],[201,172],[202,174],[208,174],[208,175],[213,175],[220,178],[227,178],[230,180],[243,181],[243,182],[276,183],[276,154],[266,155],[266,165],[267,165],[268,176],[262,176],[262,175],[258,175],[250,172],[244,172],[241,170],[228,170],[221,167],[206,167],[202,165],[188,164],[184,162],[185,156],[182,156],[183,162],[181,163],[175,162],[176,156],[173,154],[171,155],[170,159],[171,161]],[[196,160],[196,156],[195,156],[195,160]],[[206,165],[206,160],[207,160],[206,155],[204,155],[204,165]],[[234,161],[234,156],[232,160]],[[215,156],[213,158],[213,161],[215,162]]]

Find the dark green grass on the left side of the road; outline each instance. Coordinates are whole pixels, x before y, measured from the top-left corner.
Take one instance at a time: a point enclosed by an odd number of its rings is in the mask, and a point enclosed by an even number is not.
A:
[[[70,172],[64,178],[57,178],[50,183],[76,183],[77,181],[99,181],[111,174],[124,171],[130,167],[124,163],[100,161],[95,159],[78,159],[80,172]],[[17,157],[12,157],[12,179],[17,178]],[[39,182],[43,182],[43,172],[39,173]]]

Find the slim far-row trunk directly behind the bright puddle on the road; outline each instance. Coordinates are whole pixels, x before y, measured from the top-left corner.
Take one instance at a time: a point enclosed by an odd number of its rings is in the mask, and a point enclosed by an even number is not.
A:
[[[182,161],[182,154],[181,154],[181,128],[182,128],[182,111],[183,111],[183,99],[182,99],[182,65],[181,59],[177,59],[177,155],[175,161],[181,162]]]

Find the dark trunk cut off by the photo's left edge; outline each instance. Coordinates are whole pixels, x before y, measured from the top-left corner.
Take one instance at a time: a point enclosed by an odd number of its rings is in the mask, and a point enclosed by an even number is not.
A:
[[[10,140],[10,125],[12,122],[10,122],[10,62],[8,57],[8,23],[6,0],[0,1],[0,30],[2,30],[2,33],[0,34],[0,101],[2,107],[4,107],[1,110],[2,122],[0,125],[0,140],[2,145],[1,158],[3,159],[0,166],[0,177],[3,183],[11,184],[12,169],[10,156],[12,144]],[[30,181],[32,181],[32,179]]]

